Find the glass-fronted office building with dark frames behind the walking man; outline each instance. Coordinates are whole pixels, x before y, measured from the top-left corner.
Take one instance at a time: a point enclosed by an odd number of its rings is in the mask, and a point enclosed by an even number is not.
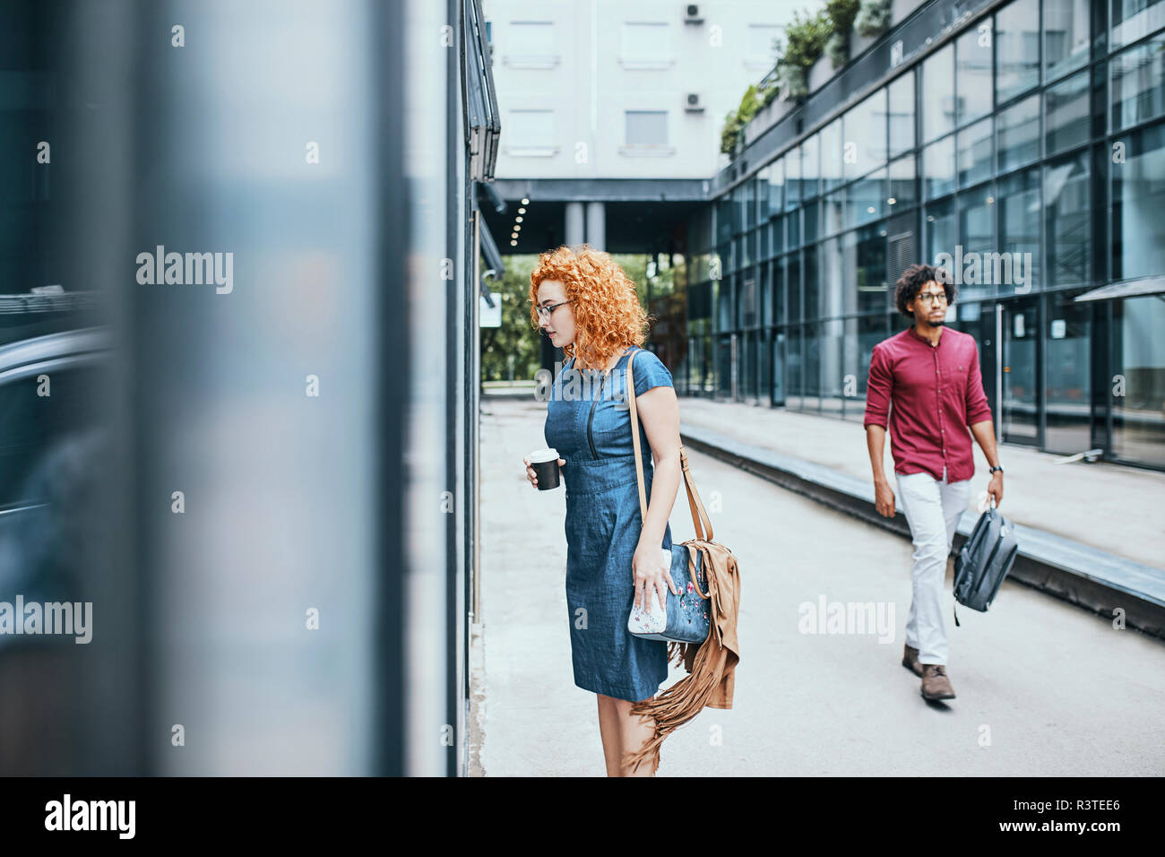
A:
[[[1003,441],[1165,468],[1162,0],[925,3],[714,190],[687,393],[860,423],[895,282],[945,253]]]

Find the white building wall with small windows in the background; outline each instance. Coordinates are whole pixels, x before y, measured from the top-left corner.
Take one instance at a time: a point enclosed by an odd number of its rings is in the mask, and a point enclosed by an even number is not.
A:
[[[483,0],[501,112],[499,178],[709,178],[725,114],[772,68],[764,30],[821,0]],[[662,24],[644,28],[635,24]],[[655,35],[658,34],[658,35]],[[698,93],[700,113],[685,111]],[[529,111],[542,111],[530,113]],[[664,111],[666,141],[627,139],[627,111]]]

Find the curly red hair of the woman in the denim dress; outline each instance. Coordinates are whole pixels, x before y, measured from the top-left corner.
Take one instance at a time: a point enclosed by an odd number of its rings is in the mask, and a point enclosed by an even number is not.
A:
[[[616,353],[647,340],[648,314],[640,305],[635,283],[610,258],[589,244],[563,245],[538,257],[530,274],[530,323],[538,328],[538,287],[557,280],[566,287],[574,312],[574,343],[563,353],[578,368],[606,368]]]

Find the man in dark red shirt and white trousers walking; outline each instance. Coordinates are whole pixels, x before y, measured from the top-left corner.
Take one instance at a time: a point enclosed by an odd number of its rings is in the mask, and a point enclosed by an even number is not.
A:
[[[894,491],[882,466],[889,428],[894,475],[915,543],[913,600],[902,666],[922,676],[927,700],[954,698],[946,672],[942,583],[959,517],[970,498],[975,472],[970,435],[990,465],[987,491],[996,505],[1003,500],[1003,468],[996,455],[979,347],[969,333],[942,326],[955,293],[942,268],[906,268],[895,303],[912,324],[874,346],[866,395],[866,443],[877,511],[887,518],[895,513]]]

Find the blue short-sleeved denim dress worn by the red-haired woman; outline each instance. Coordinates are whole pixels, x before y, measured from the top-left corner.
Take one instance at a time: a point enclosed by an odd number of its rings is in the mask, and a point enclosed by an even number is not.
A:
[[[645,349],[635,358],[635,394],[672,386],[671,372]],[[558,450],[566,486],[566,606],[574,683],[638,702],[668,677],[668,644],[627,630],[635,603],[631,557],[643,528],[635,479],[627,360],[603,378],[571,358],[555,379],[546,412],[548,447]],[[643,480],[651,498],[651,448],[640,420]],[[659,546],[671,550],[671,526]],[[656,603],[658,607],[658,603]]]

